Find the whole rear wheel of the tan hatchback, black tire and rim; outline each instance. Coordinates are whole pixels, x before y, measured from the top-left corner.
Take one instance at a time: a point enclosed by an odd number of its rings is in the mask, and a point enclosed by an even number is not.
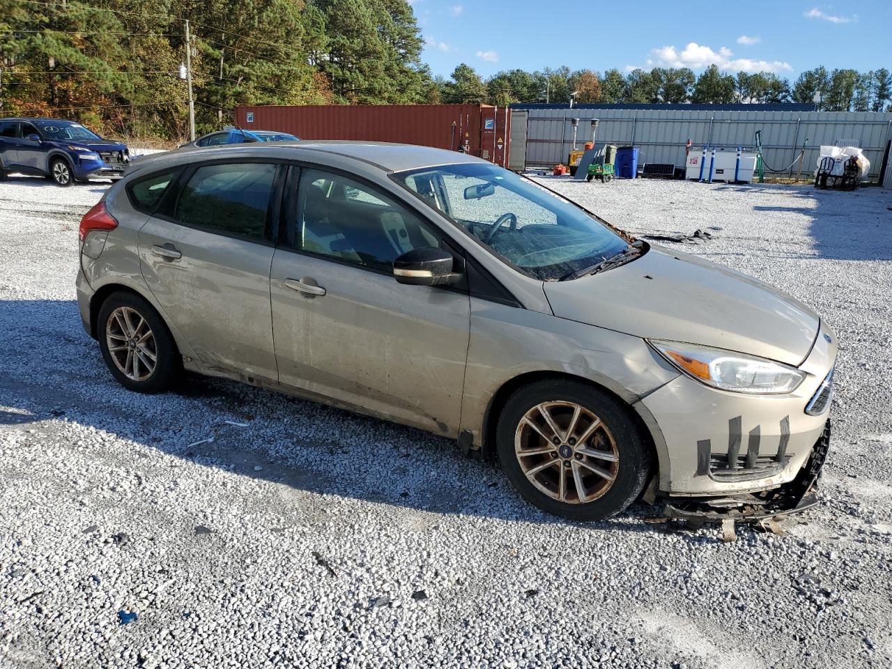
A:
[[[99,310],[96,329],[105,365],[128,390],[165,392],[178,380],[182,359],[177,343],[158,312],[139,295],[111,293]],[[148,338],[147,329],[151,334]],[[141,345],[137,343],[140,341]],[[113,350],[116,344],[124,350]]]

